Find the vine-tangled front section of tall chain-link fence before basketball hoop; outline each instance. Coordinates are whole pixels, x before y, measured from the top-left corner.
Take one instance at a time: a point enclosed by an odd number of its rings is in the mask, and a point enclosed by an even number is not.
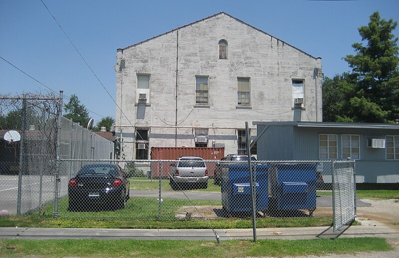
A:
[[[60,99],[52,94],[1,96],[1,209],[24,214],[54,199]]]

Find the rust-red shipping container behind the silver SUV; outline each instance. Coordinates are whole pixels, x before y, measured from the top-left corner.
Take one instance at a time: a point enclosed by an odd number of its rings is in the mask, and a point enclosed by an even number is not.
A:
[[[220,160],[224,157],[224,148],[201,148],[201,147],[151,147],[152,160],[175,160],[182,156],[196,156],[204,160]],[[208,176],[213,177],[215,162],[205,162]],[[172,162],[162,162],[161,176],[169,177]],[[151,162],[152,177],[159,176],[160,162]]]

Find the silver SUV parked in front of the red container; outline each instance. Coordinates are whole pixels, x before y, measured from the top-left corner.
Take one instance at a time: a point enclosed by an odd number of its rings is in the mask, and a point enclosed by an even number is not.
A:
[[[208,170],[201,157],[180,157],[170,166],[169,184],[173,190],[208,187]]]

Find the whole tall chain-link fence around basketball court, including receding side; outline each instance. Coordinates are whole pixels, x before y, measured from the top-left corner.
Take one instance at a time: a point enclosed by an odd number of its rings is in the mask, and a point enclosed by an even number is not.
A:
[[[60,100],[62,93],[0,96],[0,210],[22,215],[52,205],[56,217],[72,171],[87,163],[60,167],[59,159],[114,157],[114,142],[61,117]]]

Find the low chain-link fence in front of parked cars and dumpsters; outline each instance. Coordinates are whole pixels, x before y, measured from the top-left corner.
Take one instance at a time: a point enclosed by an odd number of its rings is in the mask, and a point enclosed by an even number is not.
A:
[[[247,162],[71,159],[61,167],[74,167],[62,179],[69,195],[60,200],[61,218],[176,221],[251,212]],[[257,216],[332,217],[331,161],[252,161],[251,168]]]

